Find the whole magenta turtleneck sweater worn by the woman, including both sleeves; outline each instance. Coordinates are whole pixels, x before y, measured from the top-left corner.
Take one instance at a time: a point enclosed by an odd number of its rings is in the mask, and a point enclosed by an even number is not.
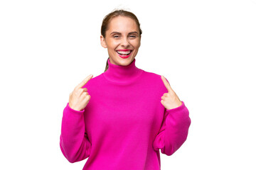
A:
[[[188,135],[191,119],[182,102],[166,110],[161,75],[115,65],[85,84],[91,98],[82,111],[63,111],[60,149],[83,170],[159,170],[159,149],[171,155]]]

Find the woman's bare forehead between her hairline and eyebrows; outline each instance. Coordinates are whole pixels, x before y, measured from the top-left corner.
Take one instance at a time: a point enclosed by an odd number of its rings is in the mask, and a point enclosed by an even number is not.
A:
[[[112,18],[109,23],[109,32],[117,31],[117,32],[131,32],[138,31],[138,27],[136,22],[127,16],[117,16]]]

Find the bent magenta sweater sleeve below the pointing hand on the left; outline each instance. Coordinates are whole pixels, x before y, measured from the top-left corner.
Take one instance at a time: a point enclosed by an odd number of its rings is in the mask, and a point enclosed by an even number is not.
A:
[[[85,132],[84,110],[75,111],[69,103],[61,123],[60,149],[69,162],[80,162],[90,156],[91,143]]]

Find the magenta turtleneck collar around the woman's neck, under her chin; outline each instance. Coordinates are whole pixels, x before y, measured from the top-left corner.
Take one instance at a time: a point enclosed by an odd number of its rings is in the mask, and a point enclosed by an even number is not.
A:
[[[135,65],[134,60],[127,66],[116,65],[110,62],[110,59],[107,60],[108,69],[103,73],[104,77],[116,84],[127,84],[135,79],[137,79],[143,72],[142,69],[139,69]]]

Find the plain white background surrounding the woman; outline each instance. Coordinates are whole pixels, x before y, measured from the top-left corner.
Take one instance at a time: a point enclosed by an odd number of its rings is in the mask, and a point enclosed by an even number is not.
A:
[[[255,0],[1,1],[0,169],[82,169],[59,147],[73,88],[105,70],[102,19],[132,11],[137,67],[169,80],[192,120],[161,169],[256,169]]]

